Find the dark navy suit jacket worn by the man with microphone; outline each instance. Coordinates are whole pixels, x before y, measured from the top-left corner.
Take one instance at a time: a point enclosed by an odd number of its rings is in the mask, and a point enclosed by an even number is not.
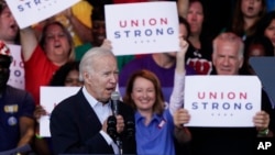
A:
[[[124,121],[134,118],[130,107],[122,102],[119,106],[119,114]],[[55,107],[50,128],[55,154],[114,154],[112,146],[99,133],[102,125],[82,89]],[[136,154],[134,135],[123,134],[121,139],[123,154]]]

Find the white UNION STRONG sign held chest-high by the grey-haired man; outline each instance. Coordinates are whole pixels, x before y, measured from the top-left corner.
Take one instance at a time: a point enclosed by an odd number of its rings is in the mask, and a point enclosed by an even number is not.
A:
[[[246,128],[261,110],[262,86],[256,76],[187,76],[186,126]]]

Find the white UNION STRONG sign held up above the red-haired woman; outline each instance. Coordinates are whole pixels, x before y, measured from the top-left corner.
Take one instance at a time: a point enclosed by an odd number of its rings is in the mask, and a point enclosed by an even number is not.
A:
[[[107,4],[105,15],[114,55],[179,49],[176,2]]]

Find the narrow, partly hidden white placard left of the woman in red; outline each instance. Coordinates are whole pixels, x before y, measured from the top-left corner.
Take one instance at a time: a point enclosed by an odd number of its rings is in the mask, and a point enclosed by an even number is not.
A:
[[[21,46],[7,44],[10,48],[12,63],[10,66],[10,78],[8,85],[19,89],[25,89],[25,70],[21,57]]]

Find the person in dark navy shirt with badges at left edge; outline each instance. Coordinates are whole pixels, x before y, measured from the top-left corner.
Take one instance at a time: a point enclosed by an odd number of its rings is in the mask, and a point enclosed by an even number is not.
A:
[[[7,85],[11,62],[8,46],[0,41],[0,152],[30,144],[34,135],[32,96]]]

